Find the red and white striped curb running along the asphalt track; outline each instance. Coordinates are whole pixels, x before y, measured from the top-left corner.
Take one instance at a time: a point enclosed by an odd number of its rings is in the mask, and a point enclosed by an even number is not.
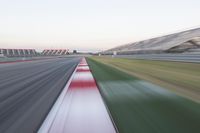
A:
[[[39,133],[116,133],[85,59],[38,131]]]

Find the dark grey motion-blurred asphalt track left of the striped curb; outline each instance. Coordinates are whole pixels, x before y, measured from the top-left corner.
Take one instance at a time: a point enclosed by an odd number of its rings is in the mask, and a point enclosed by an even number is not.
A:
[[[0,64],[0,132],[37,132],[79,61]]]

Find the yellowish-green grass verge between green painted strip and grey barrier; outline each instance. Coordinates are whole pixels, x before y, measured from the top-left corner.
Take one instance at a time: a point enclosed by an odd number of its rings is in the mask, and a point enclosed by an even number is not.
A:
[[[200,64],[110,57],[91,59],[200,102]]]

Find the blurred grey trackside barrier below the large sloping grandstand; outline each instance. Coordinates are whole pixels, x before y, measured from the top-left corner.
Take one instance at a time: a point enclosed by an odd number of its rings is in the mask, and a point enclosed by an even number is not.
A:
[[[200,63],[200,53],[198,54],[135,54],[135,55],[116,55],[119,58],[147,59],[164,61],[181,61]]]

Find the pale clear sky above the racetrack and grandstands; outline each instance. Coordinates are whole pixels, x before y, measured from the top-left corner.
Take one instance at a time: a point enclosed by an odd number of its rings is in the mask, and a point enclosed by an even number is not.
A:
[[[0,0],[0,47],[106,50],[200,27],[199,7],[199,0]]]

